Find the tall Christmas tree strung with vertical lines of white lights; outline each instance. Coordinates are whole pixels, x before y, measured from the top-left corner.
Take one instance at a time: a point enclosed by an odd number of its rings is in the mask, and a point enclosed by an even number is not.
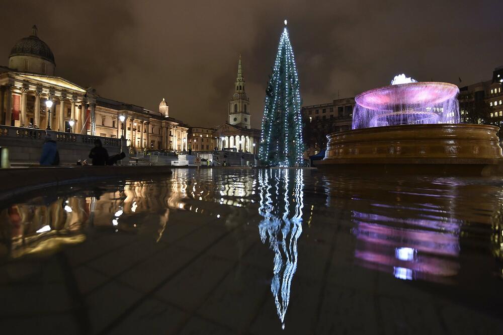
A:
[[[294,166],[302,162],[301,105],[297,67],[285,27],[266,89],[259,147],[259,158],[263,163]]]

